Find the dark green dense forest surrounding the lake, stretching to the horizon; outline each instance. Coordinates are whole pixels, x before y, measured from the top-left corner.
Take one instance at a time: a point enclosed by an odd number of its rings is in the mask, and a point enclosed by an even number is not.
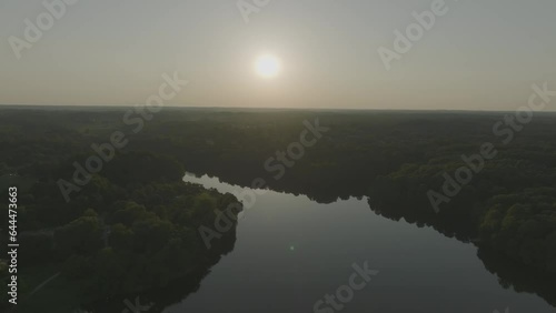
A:
[[[81,303],[168,286],[234,248],[231,231],[207,251],[197,229],[237,199],[181,182],[187,171],[245,186],[261,178],[272,190],[324,203],[368,196],[380,215],[473,242],[500,283],[556,305],[549,292],[556,282],[554,114],[510,128],[499,124],[506,113],[168,108],[128,123],[125,112],[0,111],[0,185],[19,189],[21,264],[60,271]],[[329,130],[281,175],[269,171],[266,162],[299,141],[304,121]],[[95,155],[91,144],[110,142],[116,131],[126,145],[67,202],[60,179],[70,181],[75,162]],[[480,153],[485,143],[496,155],[435,208],[430,190],[441,191],[446,174],[469,166],[463,155]],[[507,269],[515,265],[543,283],[513,275]],[[6,264],[0,271],[7,275]],[[36,281],[29,277],[22,290]]]

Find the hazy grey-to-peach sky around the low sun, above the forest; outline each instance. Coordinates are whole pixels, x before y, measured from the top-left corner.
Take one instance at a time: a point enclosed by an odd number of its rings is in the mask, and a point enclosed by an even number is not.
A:
[[[66,1],[50,28],[43,0],[0,1],[0,104],[143,104],[175,72],[166,105],[515,110],[556,90],[554,0]]]

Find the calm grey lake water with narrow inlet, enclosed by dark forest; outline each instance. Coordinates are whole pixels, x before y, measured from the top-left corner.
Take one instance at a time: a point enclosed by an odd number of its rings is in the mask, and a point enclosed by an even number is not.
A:
[[[183,181],[222,193],[242,189],[207,175]],[[433,228],[378,215],[366,198],[319,204],[267,191],[236,232],[232,251],[162,312],[314,312],[348,283],[354,263],[365,262],[378,274],[341,312],[555,312],[550,286],[534,273]],[[327,307],[321,312],[335,312]]]

